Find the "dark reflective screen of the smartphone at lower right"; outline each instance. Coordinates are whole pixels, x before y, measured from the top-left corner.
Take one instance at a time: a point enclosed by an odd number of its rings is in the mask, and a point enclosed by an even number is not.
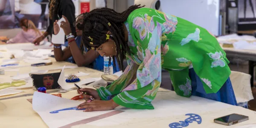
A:
[[[227,116],[217,118],[215,120],[220,121],[220,122],[225,122],[225,123],[231,123],[231,122],[241,120],[241,119],[245,119],[245,118],[248,118],[248,116],[243,116],[243,115],[239,115],[239,114],[230,114],[230,115],[227,115]]]

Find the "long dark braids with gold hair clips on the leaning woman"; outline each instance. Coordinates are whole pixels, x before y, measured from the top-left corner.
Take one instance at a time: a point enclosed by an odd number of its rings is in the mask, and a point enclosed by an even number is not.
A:
[[[111,38],[116,45],[116,58],[119,67],[124,70],[123,60],[125,59],[126,53],[130,54],[130,49],[127,41],[125,41],[123,23],[127,20],[131,12],[142,7],[144,6],[130,6],[127,10],[121,13],[109,8],[94,9],[89,12],[84,16],[83,24],[78,23],[77,25],[77,28],[83,29],[82,39],[84,46],[88,49],[96,49],[101,44],[107,42],[108,38]],[[108,31],[112,33],[111,37],[106,35]],[[92,44],[93,47],[91,47]]]

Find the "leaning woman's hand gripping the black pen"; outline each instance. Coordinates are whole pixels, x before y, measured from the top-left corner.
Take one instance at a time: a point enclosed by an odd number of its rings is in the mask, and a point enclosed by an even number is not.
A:
[[[81,88],[81,89],[78,89],[77,92],[79,94],[83,94],[86,101],[90,101],[90,98],[94,98],[94,100],[101,100],[101,98],[99,97],[98,92],[95,89]],[[86,94],[84,94],[83,92],[86,92]]]

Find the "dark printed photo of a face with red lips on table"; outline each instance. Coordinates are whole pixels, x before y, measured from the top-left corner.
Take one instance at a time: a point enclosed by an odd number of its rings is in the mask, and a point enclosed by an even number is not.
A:
[[[38,87],[45,87],[48,89],[61,88],[58,84],[58,78],[61,73],[49,73],[49,74],[30,74],[33,79],[33,86],[38,89]]]

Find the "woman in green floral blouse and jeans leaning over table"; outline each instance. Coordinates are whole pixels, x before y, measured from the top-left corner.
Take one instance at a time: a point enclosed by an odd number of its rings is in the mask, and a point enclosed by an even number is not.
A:
[[[237,105],[226,53],[201,26],[134,5],[122,13],[94,9],[84,17],[81,29],[86,47],[100,55],[118,56],[120,67],[126,57],[128,67],[107,87],[78,90],[80,94],[86,92],[85,98],[95,99],[87,99],[79,109],[104,111],[119,105],[154,109],[151,102],[161,84],[162,68],[169,71],[179,96],[194,95]]]

